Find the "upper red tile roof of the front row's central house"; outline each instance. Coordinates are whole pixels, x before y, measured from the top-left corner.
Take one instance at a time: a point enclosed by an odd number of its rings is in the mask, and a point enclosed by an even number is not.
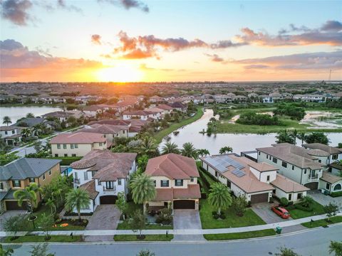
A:
[[[171,179],[199,177],[194,159],[179,154],[165,154],[148,160],[145,174]]]

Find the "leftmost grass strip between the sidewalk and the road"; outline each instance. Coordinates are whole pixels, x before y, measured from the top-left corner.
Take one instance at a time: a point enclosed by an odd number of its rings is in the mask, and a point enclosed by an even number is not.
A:
[[[71,238],[70,235],[51,235],[51,239],[46,241],[45,235],[25,235],[11,240],[11,237],[6,237],[2,242],[80,242],[81,235],[74,235]]]

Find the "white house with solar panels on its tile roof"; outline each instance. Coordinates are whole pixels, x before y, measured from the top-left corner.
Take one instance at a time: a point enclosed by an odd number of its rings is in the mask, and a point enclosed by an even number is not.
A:
[[[268,202],[272,195],[297,201],[309,188],[277,173],[279,169],[266,163],[256,163],[245,156],[221,154],[201,158],[202,168],[227,185],[235,196],[247,202]]]

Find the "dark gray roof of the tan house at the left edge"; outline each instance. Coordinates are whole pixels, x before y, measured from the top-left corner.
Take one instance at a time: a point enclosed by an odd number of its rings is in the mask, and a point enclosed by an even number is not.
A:
[[[61,162],[59,159],[18,159],[0,167],[0,180],[39,177],[59,162]]]

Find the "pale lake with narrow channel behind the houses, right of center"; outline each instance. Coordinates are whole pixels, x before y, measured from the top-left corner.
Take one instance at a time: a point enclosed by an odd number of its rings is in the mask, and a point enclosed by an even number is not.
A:
[[[255,150],[258,147],[271,146],[276,143],[276,134],[200,134],[203,129],[207,129],[209,119],[213,117],[212,110],[205,110],[204,115],[192,124],[178,129],[180,133],[170,134],[170,142],[175,142],[180,148],[185,142],[192,142],[197,149],[208,149],[210,154],[218,154],[222,146],[231,146],[234,153],[240,154],[241,151]],[[331,146],[337,146],[338,142],[342,142],[342,133],[328,133],[331,140]],[[163,139],[162,144],[165,144]],[[297,139],[297,144],[301,141]]]

